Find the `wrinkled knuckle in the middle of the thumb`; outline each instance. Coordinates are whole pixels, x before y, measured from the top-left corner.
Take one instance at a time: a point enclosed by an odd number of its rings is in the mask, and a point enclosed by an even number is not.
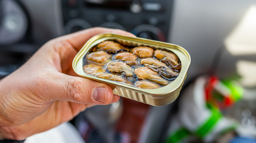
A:
[[[83,95],[83,82],[79,78],[75,78],[68,83],[67,95],[75,102],[79,102]]]

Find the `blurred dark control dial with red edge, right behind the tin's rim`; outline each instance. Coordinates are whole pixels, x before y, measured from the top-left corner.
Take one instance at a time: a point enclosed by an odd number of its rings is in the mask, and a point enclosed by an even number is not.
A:
[[[134,35],[140,38],[158,40],[163,42],[166,41],[163,32],[158,27],[150,24],[142,24],[142,25],[136,26],[131,31],[131,33],[133,33]]]

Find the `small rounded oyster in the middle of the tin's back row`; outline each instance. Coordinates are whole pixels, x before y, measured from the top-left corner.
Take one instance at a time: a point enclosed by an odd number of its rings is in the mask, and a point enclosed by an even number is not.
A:
[[[132,53],[138,56],[139,58],[153,57],[154,51],[154,49],[146,46],[139,46],[132,49]]]

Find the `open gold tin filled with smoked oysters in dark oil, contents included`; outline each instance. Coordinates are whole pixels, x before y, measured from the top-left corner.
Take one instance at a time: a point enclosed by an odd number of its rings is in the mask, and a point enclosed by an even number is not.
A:
[[[189,65],[188,52],[178,45],[117,34],[92,37],[73,60],[79,76],[154,106],[177,99]]]

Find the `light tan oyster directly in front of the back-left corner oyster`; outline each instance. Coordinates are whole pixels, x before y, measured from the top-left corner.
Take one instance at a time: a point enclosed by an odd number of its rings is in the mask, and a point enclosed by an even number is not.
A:
[[[111,55],[105,51],[92,52],[86,55],[86,60],[96,65],[104,65],[111,60]]]

